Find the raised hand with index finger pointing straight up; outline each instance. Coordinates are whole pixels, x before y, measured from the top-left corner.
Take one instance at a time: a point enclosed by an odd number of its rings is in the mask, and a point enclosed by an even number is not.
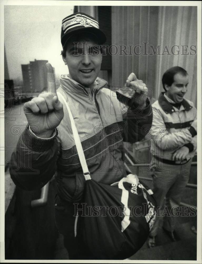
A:
[[[37,136],[49,138],[63,119],[63,105],[56,93],[55,77],[50,63],[46,63],[48,92],[24,104],[24,113],[28,124],[37,126]]]

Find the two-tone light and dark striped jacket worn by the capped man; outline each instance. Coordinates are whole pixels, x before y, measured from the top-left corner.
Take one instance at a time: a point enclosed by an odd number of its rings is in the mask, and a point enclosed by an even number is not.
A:
[[[123,141],[132,143],[144,138],[142,128],[151,127],[152,109],[149,102],[139,112],[129,109],[106,86],[106,81],[97,78],[91,93],[90,88],[62,75],[57,92],[65,97],[72,112],[91,178],[111,184],[126,176]],[[12,161],[18,166],[12,166],[10,173],[14,183],[26,190],[41,188],[55,174],[59,197],[77,201],[82,196],[85,180],[70,118],[59,94],[58,98],[63,103],[64,117],[56,135],[40,139],[31,135],[27,126],[17,146],[19,152],[12,154]],[[25,156],[30,161],[29,167],[20,158]]]

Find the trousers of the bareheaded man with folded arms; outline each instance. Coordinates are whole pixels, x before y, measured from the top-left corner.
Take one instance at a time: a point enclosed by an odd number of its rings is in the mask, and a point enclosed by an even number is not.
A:
[[[176,216],[174,215],[176,215],[177,208],[173,206],[180,205],[182,193],[189,181],[191,161],[192,159],[183,165],[161,163],[159,166],[161,168],[155,169],[153,192],[157,205],[160,206],[160,215],[164,212],[164,216],[156,217],[154,227],[150,232],[151,237],[157,235],[160,224],[162,224],[160,220],[163,220],[163,227],[166,230],[173,231],[175,229]],[[167,208],[165,208],[165,205]]]

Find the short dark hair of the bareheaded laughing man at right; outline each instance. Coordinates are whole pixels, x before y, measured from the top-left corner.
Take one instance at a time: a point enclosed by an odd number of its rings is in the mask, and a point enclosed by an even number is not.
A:
[[[171,86],[172,83],[174,82],[174,76],[177,73],[180,73],[183,76],[188,75],[187,71],[185,69],[179,67],[179,66],[175,66],[175,67],[172,67],[172,68],[166,70],[166,72],[164,73],[164,75],[162,77],[162,84],[163,84],[165,91],[166,91],[165,84],[167,84],[168,86]]]

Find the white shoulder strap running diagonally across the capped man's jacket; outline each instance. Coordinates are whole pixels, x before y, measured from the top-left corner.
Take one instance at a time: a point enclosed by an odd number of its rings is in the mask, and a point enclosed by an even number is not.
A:
[[[80,160],[80,163],[81,163],[81,167],[82,167],[82,170],[83,170],[83,175],[84,175],[86,181],[87,180],[91,180],[91,176],[90,176],[90,173],[88,171],[88,166],[87,166],[87,163],[86,163],[86,158],[85,158],[85,155],[83,153],[81,140],[79,138],[78,131],[77,131],[77,128],[76,128],[76,125],[75,125],[75,122],[74,122],[70,107],[68,106],[64,96],[61,95],[61,93],[58,92],[57,95],[62,98],[62,100],[64,101],[64,103],[65,103],[65,105],[67,107],[67,111],[68,111],[68,114],[69,114],[69,117],[70,117],[70,121],[71,121],[73,137],[74,137],[76,149],[77,149],[77,152],[78,152],[78,157],[79,157],[79,160]]]

